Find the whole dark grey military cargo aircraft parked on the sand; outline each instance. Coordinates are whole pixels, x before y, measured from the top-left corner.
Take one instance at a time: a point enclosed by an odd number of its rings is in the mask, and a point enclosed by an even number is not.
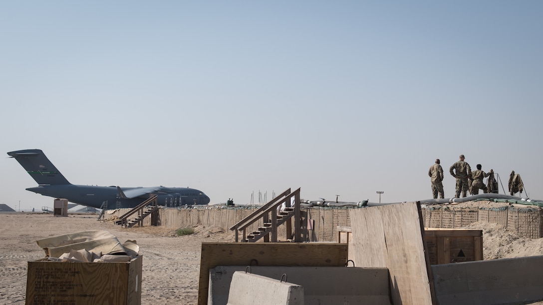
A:
[[[49,161],[40,149],[11,151],[15,158],[39,186],[27,188],[30,192],[53,198],[64,198],[74,204],[94,208],[131,208],[141,204],[150,195],[157,195],[159,205],[207,205],[209,197],[198,189],[181,187],[118,187],[72,185]]]

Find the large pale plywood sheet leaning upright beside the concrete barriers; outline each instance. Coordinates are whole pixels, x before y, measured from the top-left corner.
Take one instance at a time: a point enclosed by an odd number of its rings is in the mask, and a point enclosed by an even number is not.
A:
[[[355,265],[388,268],[394,304],[435,303],[418,202],[352,209],[351,224]]]

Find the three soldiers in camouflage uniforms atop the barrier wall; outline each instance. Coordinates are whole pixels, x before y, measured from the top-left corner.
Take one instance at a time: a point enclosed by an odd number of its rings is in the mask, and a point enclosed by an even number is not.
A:
[[[468,194],[468,189],[473,195],[479,193],[479,189],[482,189],[486,194],[488,193],[487,186],[483,183],[483,178],[488,177],[494,173],[494,170],[490,170],[489,173],[485,173],[481,170],[481,164],[477,164],[477,169],[471,171],[470,164],[464,161],[464,155],[460,155],[460,160],[452,164],[449,172],[451,175],[456,178],[456,195],[454,198],[460,198],[460,192],[462,192],[462,197],[465,197]],[[432,194],[434,199],[445,198],[445,193],[443,192],[443,168],[439,165],[439,159],[435,160],[435,164],[430,167],[428,170],[428,176],[431,177],[432,181]]]

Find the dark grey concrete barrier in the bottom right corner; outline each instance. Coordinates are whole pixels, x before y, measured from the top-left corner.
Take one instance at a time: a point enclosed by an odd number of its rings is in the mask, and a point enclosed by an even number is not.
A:
[[[432,265],[435,295],[447,304],[543,300],[543,256]]]

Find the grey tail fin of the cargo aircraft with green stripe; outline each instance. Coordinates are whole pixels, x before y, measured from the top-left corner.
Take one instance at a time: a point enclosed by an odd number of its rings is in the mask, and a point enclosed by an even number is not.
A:
[[[8,155],[15,158],[39,185],[70,184],[40,149],[10,151]]]

